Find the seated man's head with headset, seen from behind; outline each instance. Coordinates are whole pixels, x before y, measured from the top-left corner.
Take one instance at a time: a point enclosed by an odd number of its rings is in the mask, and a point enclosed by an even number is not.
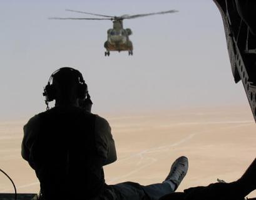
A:
[[[87,93],[82,74],[76,69],[63,67],[53,72],[43,95],[46,104],[56,100],[56,105],[78,105],[78,100],[83,100]]]

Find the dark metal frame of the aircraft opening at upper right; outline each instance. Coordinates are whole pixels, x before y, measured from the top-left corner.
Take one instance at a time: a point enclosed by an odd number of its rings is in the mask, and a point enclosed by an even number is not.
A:
[[[256,2],[213,0],[222,15],[235,83],[243,83],[256,121]]]

